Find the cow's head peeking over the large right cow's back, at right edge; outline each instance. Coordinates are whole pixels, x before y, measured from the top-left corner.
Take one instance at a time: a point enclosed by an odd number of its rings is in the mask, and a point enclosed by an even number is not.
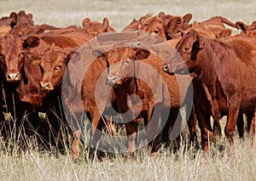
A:
[[[256,21],[253,21],[251,25],[246,25],[241,21],[236,22],[236,28],[241,30],[241,34],[247,37],[256,38]]]

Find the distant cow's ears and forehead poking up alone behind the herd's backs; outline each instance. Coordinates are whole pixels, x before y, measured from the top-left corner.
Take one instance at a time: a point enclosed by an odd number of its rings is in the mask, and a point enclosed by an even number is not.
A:
[[[94,36],[98,36],[104,32],[114,31],[109,25],[108,18],[104,18],[102,23],[96,21],[91,22],[89,18],[85,18],[83,20],[83,26],[86,31]]]

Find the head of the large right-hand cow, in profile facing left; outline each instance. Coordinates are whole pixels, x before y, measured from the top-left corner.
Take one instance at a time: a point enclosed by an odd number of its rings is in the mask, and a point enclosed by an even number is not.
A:
[[[204,48],[204,39],[197,31],[191,30],[177,42],[177,52],[163,66],[163,70],[169,74],[189,74],[196,71],[199,60],[197,56]]]

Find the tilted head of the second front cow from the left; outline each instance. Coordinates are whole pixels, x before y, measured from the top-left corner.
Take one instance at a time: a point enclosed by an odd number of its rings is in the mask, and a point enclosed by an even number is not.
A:
[[[42,81],[39,83],[39,87],[50,91],[60,85],[67,63],[73,58],[73,55],[77,55],[75,50],[62,50],[53,44],[40,60]]]

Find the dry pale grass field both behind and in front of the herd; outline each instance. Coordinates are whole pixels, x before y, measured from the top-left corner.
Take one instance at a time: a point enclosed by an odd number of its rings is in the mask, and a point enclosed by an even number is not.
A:
[[[25,10],[33,14],[35,24],[46,23],[59,27],[81,25],[84,18],[102,21],[108,17],[110,25],[121,30],[133,18],[144,14],[193,14],[192,20],[207,20],[222,15],[236,22],[250,24],[256,20],[256,2],[245,1],[168,1],[168,0],[0,0],[0,16],[12,11]],[[223,143],[221,143],[223,144]],[[228,144],[227,144],[228,145]],[[212,148],[213,156],[203,156],[187,144],[181,145],[176,154],[160,150],[160,156],[150,159],[147,148],[138,150],[135,158],[125,161],[123,156],[106,157],[103,161],[87,159],[82,149],[78,161],[68,155],[39,153],[31,146],[26,153],[5,152],[0,149],[1,180],[255,180],[256,149],[248,140],[236,139],[235,153],[229,149],[219,152]]]

